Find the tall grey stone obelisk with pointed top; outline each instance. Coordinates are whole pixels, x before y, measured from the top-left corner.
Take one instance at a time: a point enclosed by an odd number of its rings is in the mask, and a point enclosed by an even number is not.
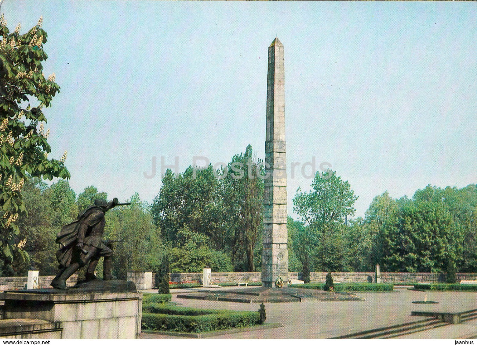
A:
[[[285,145],[285,67],[283,44],[269,47],[267,79],[267,132],[263,192],[262,286],[272,287],[280,276],[288,283],[287,174]]]

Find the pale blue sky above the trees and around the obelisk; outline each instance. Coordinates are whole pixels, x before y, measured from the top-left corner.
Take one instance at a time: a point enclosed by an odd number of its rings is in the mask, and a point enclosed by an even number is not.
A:
[[[288,212],[313,157],[347,180],[355,216],[388,191],[477,182],[477,10],[467,2],[16,1],[10,30],[43,16],[50,158],[76,193],[152,202],[161,157],[265,157],[268,47],[285,49]],[[152,174],[156,157],[156,175]],[[300,163],[291,178],[291,163]],[[198,162],[199,165],[203,161]],[[311,168],[305,170],[311,175]]]

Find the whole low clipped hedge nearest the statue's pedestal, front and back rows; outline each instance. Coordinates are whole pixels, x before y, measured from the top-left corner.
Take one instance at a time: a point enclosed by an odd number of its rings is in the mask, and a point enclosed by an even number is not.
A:
[[[260,313],[197,309],[162,304],[143,307],[142,328],[156,331],[200,333],[260,324]]]

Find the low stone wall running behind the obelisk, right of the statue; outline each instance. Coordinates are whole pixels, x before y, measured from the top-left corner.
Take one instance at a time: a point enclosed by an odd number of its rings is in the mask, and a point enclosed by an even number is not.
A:
[[[311,282],[323,282],[327,272],[311,272]],[[333,280],[340,283],[367,283],[371,277],[373,283],[376,282],[374,272],[332,272]],[[442,273],[408,273],[408,272],[381,272],[381,282],[389,284],[413,284],[413,283],[437,283],[443,282],[446,276]],[[154,275],[153,275],[154,277]],[[170,281],[182,283],[185,281],[199,281],[202,283],[202,272],[194,273],[169,273]],[[301,272],[289,272],[289,279],[303,280]],[[456,281],[477,280],[477,273],[457,273]],[[212,284],[237,283],[237,282],[259,282],[260,272],[212,272]],[[154,281],[153,281],[154,286]]]

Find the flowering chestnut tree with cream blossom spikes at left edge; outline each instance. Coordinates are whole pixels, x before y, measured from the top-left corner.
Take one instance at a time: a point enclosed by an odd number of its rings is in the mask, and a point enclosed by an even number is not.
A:
[[[28,260],[22,249],[27,239],[20,238],[15,222],[26,214],[21,188],[30,177],[69,178],[60,160],[48,159],[51,152],[45,132],[42,108],[50,106],[60,87],[55,75],[45,78],[41,62],[47,34],[43,19],[27,33],[18,24],[9,31],[4,15],[0,17],[0,264],[15,266]],[[2,262],[3,261],[3,262]]]

